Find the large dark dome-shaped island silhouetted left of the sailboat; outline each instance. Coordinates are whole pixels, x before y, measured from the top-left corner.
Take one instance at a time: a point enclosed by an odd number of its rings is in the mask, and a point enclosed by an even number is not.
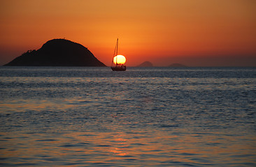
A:
[[[6,65],[106,67],[86,47],[64,39],[49,40],[40,49],[29,50]]]

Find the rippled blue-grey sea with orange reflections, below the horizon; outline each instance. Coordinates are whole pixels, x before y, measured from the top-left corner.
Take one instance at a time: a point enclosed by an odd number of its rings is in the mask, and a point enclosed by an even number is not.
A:
[[[256,68],[0,67],[0,166],[256,166]]]

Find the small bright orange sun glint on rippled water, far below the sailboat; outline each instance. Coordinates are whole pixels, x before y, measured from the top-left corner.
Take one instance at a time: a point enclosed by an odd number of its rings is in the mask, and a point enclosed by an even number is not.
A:
[[[125,149],[123,147],[127,147],[127,140],[122,138],[122,135],[113,136],[114,141],[117,143],[116,145],[118,147],[113,147],[110,152],[113,152],[114,154],[118,154],[120,156],[125,156],[127,152],[125,152]]]

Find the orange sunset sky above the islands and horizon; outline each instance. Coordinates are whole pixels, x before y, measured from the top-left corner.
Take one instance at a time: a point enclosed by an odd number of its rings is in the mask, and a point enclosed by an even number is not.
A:
[[[111,65],[256,66],[254,0],[0,0],[0,65],[54,38]]]

